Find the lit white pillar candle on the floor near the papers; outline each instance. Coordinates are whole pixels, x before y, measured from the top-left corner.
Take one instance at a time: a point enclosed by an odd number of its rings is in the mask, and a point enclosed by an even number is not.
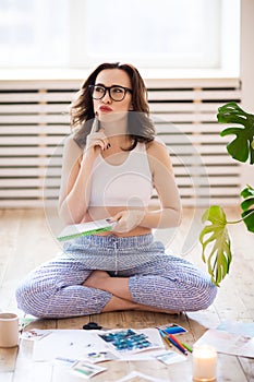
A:
[[[208,345],[198,345],[193,348],[193,380],[194,381],[215,381],[217,353],[215,348]]]

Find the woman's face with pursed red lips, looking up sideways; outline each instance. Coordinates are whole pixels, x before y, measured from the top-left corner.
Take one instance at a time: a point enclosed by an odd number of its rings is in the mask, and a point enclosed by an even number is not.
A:
[[[95,85],[101,85],[104,91],[104,86],[122,86],[132,88],[131,80],[126,72],[121,69],[105,69],[102,70],[95,80]],[[101,91],[101,88],[98,88]],[[104,93],[104,92],[102,92]],[[101,93],[101,94],[102,94]],[[99,94],[99,92],[98,92]],[[111,89],[112,97],[119,97],[118,88]],[[93,99],[94,103],[94,111],[98,116],[98,119],[101,122],[107,122],[113,120],[116,117],[126,116],[129,110],[132,110],[132,94],[126,91],[125,96],[122,100],[113,100],[109,92],[107,91],[102,98]],[[114,118],[113,118],[114,116]]]

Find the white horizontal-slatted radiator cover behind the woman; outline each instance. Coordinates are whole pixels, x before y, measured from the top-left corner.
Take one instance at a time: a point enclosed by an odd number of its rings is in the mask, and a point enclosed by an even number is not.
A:
[[[68,107],[80,85],[73,80],[0,82],[0,207],[57,203]],[[223,127],[216,114],[227,102],[241,103],[240,81],[146,80],[146,85],[183,205],[235,204],[242,167],[227,153],[229,138],[219,136]]]

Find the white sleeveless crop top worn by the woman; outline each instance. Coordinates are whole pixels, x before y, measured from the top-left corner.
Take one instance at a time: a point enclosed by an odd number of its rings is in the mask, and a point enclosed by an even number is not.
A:
[[[145,143],[129,152],[121,165],[110,165],[98,155],[93,167],[89,206],[147,206],[153,179]]]

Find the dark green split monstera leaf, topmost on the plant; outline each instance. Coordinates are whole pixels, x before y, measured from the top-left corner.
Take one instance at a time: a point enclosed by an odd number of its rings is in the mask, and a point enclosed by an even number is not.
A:
[[[220,135],[234,134],[235,139],[227,145],[228,153],[239,162],[254,164],[254,115],[243,111],[235,103],[229,103],[218,109],[219,123],[238,123],[241,127],[232,127],[221,131]]]

